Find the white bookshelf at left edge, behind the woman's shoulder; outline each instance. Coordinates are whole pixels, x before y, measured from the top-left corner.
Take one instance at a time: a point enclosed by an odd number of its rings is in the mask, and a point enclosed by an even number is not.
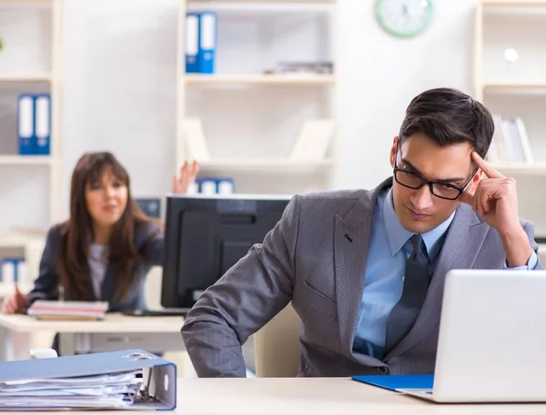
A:
[[[63,214],[63,0],[0,0],[0,27],[0,260],[23,255],[34,277],[41,254],[34,247],[43,247],[44,235],[30,230],[45,231]],[[50,153],[23,155],[17,97],[41,93],[51,96]]]

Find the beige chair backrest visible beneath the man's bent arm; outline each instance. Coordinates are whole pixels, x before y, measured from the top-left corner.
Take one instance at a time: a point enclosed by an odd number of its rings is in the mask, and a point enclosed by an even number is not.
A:
[[[301,355],[300,327],[301,321],[290,302],[254,334],[254,355],[258,378],[298,376]]]

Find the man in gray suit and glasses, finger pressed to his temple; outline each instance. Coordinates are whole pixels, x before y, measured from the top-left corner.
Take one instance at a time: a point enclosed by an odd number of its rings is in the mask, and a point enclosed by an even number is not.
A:
[[[493,129],[469,95],[426,91],[394,138],[391,178],[295,196],[188,313],[198,376],[245,376],[241,344],[289,301],[300,376],[432,373],[446,272],[542,268],[514,180],[483,160]]]

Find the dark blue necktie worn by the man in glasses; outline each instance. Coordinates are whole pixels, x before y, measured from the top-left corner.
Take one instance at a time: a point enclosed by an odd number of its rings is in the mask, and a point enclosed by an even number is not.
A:
[[[419,234],[414,234],[410,241],[413,252],[406,261],[402,296],[387,319],[385,354],[389,353],[410,332],[429,290],[429,258],[425,244]]]

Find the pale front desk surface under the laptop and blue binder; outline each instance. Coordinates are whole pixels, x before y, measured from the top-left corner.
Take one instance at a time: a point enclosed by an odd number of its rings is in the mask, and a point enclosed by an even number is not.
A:
[[[35,414],[35,412],[12,413]],[[70,413],[89,415],[90,412]],[[118,410],[101,411],[100,415],[119,415],[119,413]],[[134,413],[157,415],[158,412]],[[187,415],[526,415],[546,413],[546,404],[437,404],[341,378],[197,379],[178,380],[175,413]]]

